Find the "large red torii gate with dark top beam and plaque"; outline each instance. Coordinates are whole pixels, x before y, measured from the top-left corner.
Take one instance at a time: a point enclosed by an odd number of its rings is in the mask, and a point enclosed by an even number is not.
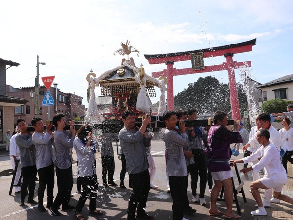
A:
[[[158,78],[163,74],[167,76],[167,110],[174,110],[173,76],[227,70],[229,79],[230,100],[232,107],[232,117],[234,120],[241,120],[234,69],[240,68],[242,66],[251,67],[251,61],[233,61],[233,56],[235,53],[244,53],[252,51],[252,46],[254,46],[255,44],[256,39],[253,39],[251,41],[246,41],[242,43],[212,47],[207,49],[168,54],[144,54],[144,56],[148,60],[149,64],[165,63],[167,65],[167,70],[164,69],[161,72],[152,73],[152,76],[155,78]],[[223,62],[223,64],[219,65],[204,66],[203,58],[216,56],[224,56],[226,58],[226,63]],[[173,68],[174,62],[185,60],[192,61],[192,68]]]

